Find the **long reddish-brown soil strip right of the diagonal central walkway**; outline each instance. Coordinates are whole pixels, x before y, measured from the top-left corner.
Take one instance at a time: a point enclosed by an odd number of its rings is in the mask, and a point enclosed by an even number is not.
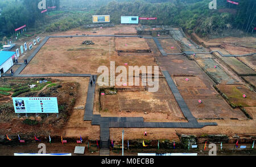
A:
[[[246,116],[241,110],[233,110],[217,93],[212,87],[214,83],[195,61],[188,60],[187,57],[182,55],[157,57],[156,59],[162,70],[168,70],[168,72],[174,76],[174,81],[176,82],[180,94],[196,118],[246,119]],[[185,78],[189,78],[190,81],[185,81]],[[199,99],[203,101],[200,105],[197,102]]]

